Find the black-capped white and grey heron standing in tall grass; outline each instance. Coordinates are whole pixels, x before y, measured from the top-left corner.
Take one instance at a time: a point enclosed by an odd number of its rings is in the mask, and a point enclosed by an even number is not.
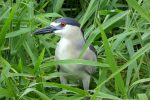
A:
[[[80,28],[80,23],[70,17],[58,18],[49,26],[33,32],[35,35],[55,34],[60,36],[55,49],[56,60],[78,59],[86,39]],[[94,46],[90,45],[84,52],[81,59],[97,61]],[[81,80],[84,90],[89,90],[91,75],[96,72],[96,66],[83,64],[62,64],[58,65],[59,72],[68,73],[68,76],[60,76],[61,84],[68,84],[68,80]]]

